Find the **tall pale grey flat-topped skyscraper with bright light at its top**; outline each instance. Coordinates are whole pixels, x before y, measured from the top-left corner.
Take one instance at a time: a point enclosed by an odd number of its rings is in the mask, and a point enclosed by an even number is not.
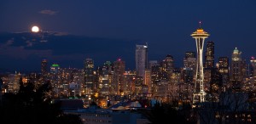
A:
[[[137,76],[145,76],[145,69],[148,68],[148,44],[136,45],[135,61]]]

